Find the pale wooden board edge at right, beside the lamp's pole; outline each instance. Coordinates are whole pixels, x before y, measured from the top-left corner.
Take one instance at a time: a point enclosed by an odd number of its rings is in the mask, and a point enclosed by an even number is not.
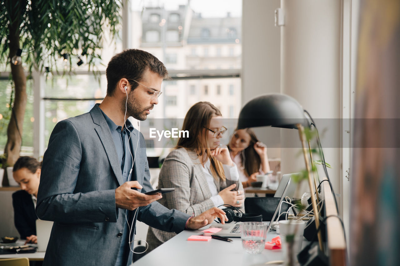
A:
[[[326,179],[326,177],[324,178]],[[328,182],[323,182],[326,216],[338,215],[336,211],[335,200],[332,195]],[[326,235],[328,237],[328,249],[330,265],[346,265],[346,241],[344,240],[344,231],[340,220],[337,217],[326,219]]]

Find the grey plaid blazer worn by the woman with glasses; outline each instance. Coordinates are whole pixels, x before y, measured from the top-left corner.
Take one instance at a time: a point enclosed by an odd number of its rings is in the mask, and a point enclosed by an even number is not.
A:
[[[214,179],[217,191],[236,184],[236,188],[243,190],[242,183],[238,181],[222,181]],[[194,151],[184,148],[170,152],[162,164],[158,188],[175,188],[174,192],[166,193],[158,200],[167,208],[175,208],[187,214],[198,215],[214,206],[211,192],[198,156]],[[147,232],[148,252],[158,247],[176,234],[149,227]]]

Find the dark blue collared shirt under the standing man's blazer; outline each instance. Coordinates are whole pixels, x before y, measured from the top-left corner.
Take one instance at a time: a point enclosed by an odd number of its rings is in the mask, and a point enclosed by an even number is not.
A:
[[[129,180],[128,176],[130,169],[132,169],[134,150],[132,149],[132,146],[129,144],[128,139],[131,134],[130,132],[134,130],[134,127],[132,126],[132,123],[130,123],[130,121],[127,119],[125,121],[126,127],[124,126],[124,130],[122,130],[121,126],[116,125],[103,111],[102,113],[111,131],[112,140],[114,141],[115,149],[118,155],[118,161],[120,161],[121,165],[122,177],[124,177],[124,180],[126,181],[132,181],[134,180],[134,178],[132,179],[132,175],[130,175]],[[131,136],[131,139],[132,137],[134,137],[134,135]],[[126,210],[125,214],[128,215]],[[128,221],[129,220],[130,219],[128,219]],[[134,234],[134,230],[132,230],[132,234]],[[129,256],[128,250],[130,246],[128,242],[129,242],[129,229],[127,222],[125,222],[124,234],[122,235],[122,242],[120,250],[118,252],[117,262],[115,266],[126,266],[128,264],[128,256]]]

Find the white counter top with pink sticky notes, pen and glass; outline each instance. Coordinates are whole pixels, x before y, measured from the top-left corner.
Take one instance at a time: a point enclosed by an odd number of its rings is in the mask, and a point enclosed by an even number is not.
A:
[[[174,265],[242,265],[256,266],[265,262],[282,260],[282,250],[262,250],[261,254],[247,254],[242,248],[240,238],[231,238],[233,242],[218,239],[210,241],[188,241],[191,235],[200,234],[201,230],[184,230],[143,258],[134,262],[133,266]],[[276,232],[268,233],[267,241],[276,237]],[[304,241],[303,241],[304,245]]]

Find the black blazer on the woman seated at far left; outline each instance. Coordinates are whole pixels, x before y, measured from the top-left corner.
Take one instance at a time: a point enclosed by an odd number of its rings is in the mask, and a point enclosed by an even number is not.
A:
[[[21,239],[34,234],[36,236],[36,216],[32,196],[24,190],[12,193],[14,207],[14,224],[20,233]]]

